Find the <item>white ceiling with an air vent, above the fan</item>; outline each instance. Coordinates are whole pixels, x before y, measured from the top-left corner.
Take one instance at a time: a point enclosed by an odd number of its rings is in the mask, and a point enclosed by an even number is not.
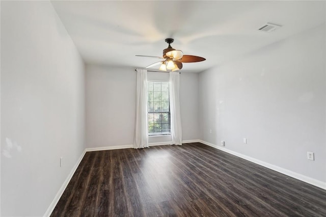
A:
[[[144,68],[172,45],[200,72],[325,22],[325,2],[284,1],[52,1],[86,63]],[[259,32],[266,22],[283,25]],[[156,68],[158,68],[157,66]],[[155,69],[155,67],[153,68]]]

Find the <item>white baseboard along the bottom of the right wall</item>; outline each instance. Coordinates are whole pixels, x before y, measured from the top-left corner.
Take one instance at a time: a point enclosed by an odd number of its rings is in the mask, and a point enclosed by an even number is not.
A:
[[[202,141],[202,140],[199,140],[200,143],[203,143],[205,145],[208,145],[210,147],[213,147],[213,148],[216,148],[216,149],[219,149],[221,151],[225,151],[229,154],[232,154],[232,155],[235,155],[235,156],[238,156],[238,157],[241,157],[242,159],[246,159],[246,160],[249,160],[251,162],[254,162],[255,164],[258,164],[260,166],[263,166],[263,167],[266,167],[268,169],[271,169],[271,170],[274,170],[276,172],[279,172],[279,173],[282,173],[284,175],[287,175],[287,176],[290,176],[292,178],[295,178],[295,179],[298,179],[298,180],[301,180],[301,181],[304,181],[304,182],[307,182],[309,184],[312,184],[312,185],[315,185],[317,187],[320,187],[322,189],[326,189],[326,182],[322,182],[322,181],[319,181],[317,179],[313,179],[313,178],[310,178],[308,176],[305,176],[305,175],[302,175],[300,173],[295,173],[293,171],[290,171],[290,170],[287,170],[287,169],[284,169],[282,167],[278,167],[278,166],[275,166],[275,165],[272,165],[272,164],[269,164],[267,162],[264,162],[262,160],[258,160],[256,158],[253,158],[253,157],[249,157],[247,155],[244,155],[244,154],[240,154],[238,152],[235,152],[235,151],[231,151],[229,149],[226,149],[222,146],[218,146],[218,145],[214,145],[214,144],[211,144],[211,143],[208,143],[208,142],[205,142],[205,141]]]

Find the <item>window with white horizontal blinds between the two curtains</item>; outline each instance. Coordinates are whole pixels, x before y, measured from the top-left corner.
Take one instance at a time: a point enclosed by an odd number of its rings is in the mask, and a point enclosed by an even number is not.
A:
[[[148,135],[171,134],[169,82],[147,82]]]

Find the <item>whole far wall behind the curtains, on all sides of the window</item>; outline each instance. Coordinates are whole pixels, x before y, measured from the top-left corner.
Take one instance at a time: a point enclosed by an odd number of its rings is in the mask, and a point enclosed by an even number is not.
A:
[[[169,80],[169,74],[149,72],[148,79]],[[135,89],[134,68],[87,65],[87,148],[132,144]],[[198,139],[198,74],[181,73],[180,100],[183,140]],[[149,139],[150,143],[170,141],[169,136]]]

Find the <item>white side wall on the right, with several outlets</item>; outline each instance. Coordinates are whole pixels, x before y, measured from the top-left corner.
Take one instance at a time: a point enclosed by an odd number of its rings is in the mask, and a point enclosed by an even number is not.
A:
[[[200,73],[201,140],[325,182],[325,46],[320,25]]]

